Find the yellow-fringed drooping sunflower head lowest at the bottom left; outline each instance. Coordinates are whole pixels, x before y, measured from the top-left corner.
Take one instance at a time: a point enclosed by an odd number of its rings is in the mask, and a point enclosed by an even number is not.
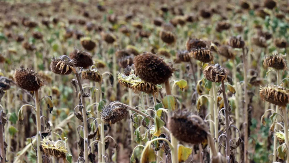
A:
[[[56,158],[62,158],[64,161],[66,160],[68,151],[66,150],[65,142],[61,140],[54,142],[44,138],[41,141],[41,147],[45,154]]]

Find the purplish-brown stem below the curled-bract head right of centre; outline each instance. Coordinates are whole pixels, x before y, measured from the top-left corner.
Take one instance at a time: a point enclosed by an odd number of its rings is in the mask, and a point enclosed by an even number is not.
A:
[[[228,109],[228,101],[227,101],[224,81],[221,82],[221,85],[222,85],[223,100],[224,100],[224,105],[225,105],[226,158],[227,158],[227,161],[230,162],[229,109]]]

